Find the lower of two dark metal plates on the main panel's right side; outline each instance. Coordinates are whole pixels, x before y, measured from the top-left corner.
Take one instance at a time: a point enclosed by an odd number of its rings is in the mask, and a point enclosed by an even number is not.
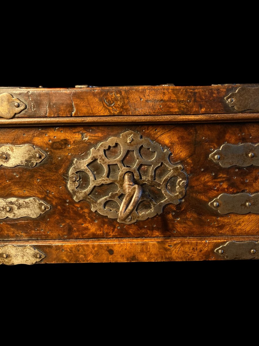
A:
[[[218,210],[220,214],[259,214],[259,193],[221,193],[209,203],[209,206]]]

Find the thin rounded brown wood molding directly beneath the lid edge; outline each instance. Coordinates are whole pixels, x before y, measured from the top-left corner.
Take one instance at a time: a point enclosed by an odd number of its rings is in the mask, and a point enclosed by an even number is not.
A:
[[[190,122],[247,122],[258,121],[259,113],[204,114],[204,115],[159,115],[159,116],[99,116],[70,118],[13,118],[0,119],[0,127],[31,126],[31,125],[81,125],[81,124],[172,124]]]

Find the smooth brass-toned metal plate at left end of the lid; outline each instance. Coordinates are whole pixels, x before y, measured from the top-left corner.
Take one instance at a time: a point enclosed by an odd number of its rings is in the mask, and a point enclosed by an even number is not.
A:
[[[8,92],[0,94],[0,117],[11,119],[26,108],[26,104]]]

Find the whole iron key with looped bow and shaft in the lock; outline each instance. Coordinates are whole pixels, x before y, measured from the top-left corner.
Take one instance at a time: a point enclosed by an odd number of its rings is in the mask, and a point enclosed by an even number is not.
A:
[[[119,208],[119,221],[124,221],[131,215],[142,195],[142,187],[134,184],[134,175],[132,172],[127,172],[124,175],[123,192],[125,193],[125,197]]]

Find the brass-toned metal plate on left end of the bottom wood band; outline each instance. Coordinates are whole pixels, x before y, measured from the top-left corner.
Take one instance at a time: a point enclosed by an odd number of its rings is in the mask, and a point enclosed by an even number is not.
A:
[[[31,245],[0,245],[0,264],[35,264],[46,254]]]

